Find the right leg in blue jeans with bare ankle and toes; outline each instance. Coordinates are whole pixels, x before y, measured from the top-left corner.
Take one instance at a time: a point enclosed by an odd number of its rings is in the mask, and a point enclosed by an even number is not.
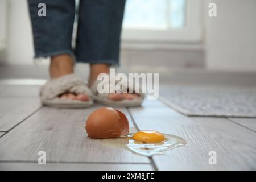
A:
[[[125,0],[80,1],[76,40],[77,61],[90,64],[89,86],[100,73],[119,64],[120,35]],[[112,100],[133,99],[137,94],[110,94]]]

